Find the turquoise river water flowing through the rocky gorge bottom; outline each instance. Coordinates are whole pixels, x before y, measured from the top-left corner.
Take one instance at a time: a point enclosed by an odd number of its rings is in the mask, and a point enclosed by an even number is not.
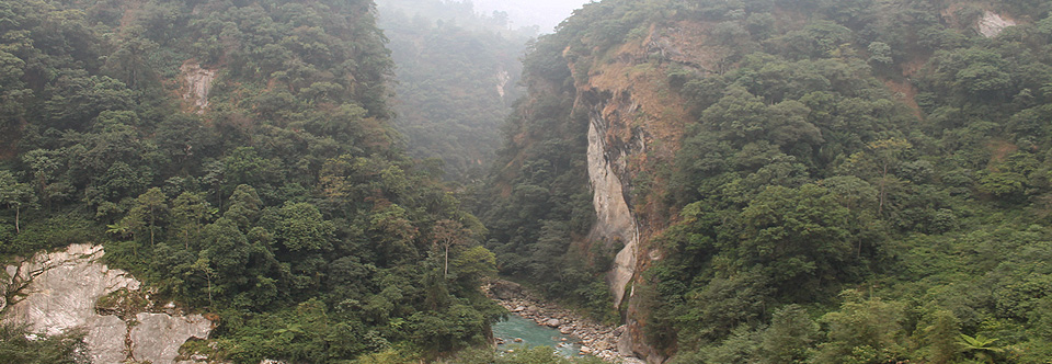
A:
[[[581,345],[576,344],[573,338],[517,315],[508,315],[507,321],[493,325],[493,337],[504,340],[503,344],[496,345],[498,350],[515,349],[515,346],[522,345],[551,346],[563,356],[580,355],[581,350]],[[522,342],[515,342],[515,339],[523,340]],[[562,339],[567,339],[567,341],[562,341]]]

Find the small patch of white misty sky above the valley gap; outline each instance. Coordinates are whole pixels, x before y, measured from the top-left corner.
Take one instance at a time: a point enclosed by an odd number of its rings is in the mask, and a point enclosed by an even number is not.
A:
[[[472,0],[474,10],[490,14],[494,10],[506,11],[513,27],[540,25],[541,33],[551,33],[574,9],[590,0]]]

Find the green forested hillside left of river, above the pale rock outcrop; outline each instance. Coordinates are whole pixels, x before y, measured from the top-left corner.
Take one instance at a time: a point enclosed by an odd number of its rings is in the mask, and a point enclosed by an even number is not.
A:
[[[375,13],[0,1],[0,252],[104,244],[152,287],[127,305],[216,322],[190,344],[216,361],[484,344],[503,312],[478,288],[485,229],[397,147]]]

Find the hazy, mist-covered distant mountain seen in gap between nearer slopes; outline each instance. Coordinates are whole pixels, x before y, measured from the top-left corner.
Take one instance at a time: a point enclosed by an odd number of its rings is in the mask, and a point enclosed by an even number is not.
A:
[[[439,158],[448,180],[481,180],[501,126],[523,94],[521,57],[536,26],[510,30],[506,13],[471,2],[378,2],[379,26],[397,65],[395,126],[421,159]]]

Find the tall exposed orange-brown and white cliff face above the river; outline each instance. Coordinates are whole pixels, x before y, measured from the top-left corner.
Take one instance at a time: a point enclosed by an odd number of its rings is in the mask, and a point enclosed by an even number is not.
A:
[[[588,110],[588,178],[597,216],[588,238],[624,244],[608,275],[616,307],[626,294],[631,295],[625,289],[638,265],[660,255],[653,248],[640,249],[641,240],[665,225],[655,216],[660,207],[648,195],[652,191],[642,191],[647,186],[638,185],[637,177],[671,162],[687,123],[685,102],[664,81],[667,65],[649,64],[648,55],[666,54],[682,64],[704,67],[713,53],[696,46],[704,41],[696,24],[677,25],[652,29],[647,37],[617,49],[609,56],[614,61],[587,59],[594,64],[570,65],[574,78],[585,80],[576,84],[575,105]]]

